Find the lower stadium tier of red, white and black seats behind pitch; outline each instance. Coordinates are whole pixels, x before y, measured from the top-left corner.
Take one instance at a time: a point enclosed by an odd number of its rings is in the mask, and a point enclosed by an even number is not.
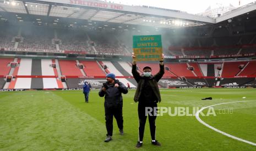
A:
[[[8,89],[61,89],[80,88],[84,80],[99,88],[105,81],[106,73],[114,73],[122,83],[135,88],[132,65],[126,61],[91,61],[61,59],[0,59],[1,88]],[[13,63],[10,63],[13,62]],[[16,65],[17,63],[17,65]],[[11,66],[14,64],[15,66]],[[152,74],[159,71],[159,63],[138,62],[139,73],[144,66],[152,68]],[[256,61],[204,62],[204,63],[165,63],[165,74],[159,83],[160,88],[177,86],[236,86],[253,85]],[[13,75],[10,82],[6,76]],[[66,81],[61,82],[61,76]],[[218,78],[219,77],[219,78]],[[243,78],[243,79],[241,79]],[[168,82],[167,82],[168,81]],[[235,84],[236,83],[236,84]],[[250,84],[252,83],[252,84]]]

